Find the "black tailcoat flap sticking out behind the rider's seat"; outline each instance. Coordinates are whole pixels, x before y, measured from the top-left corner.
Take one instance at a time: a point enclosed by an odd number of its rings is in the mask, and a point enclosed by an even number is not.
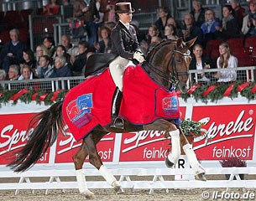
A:
[[[97,74],[107,69],[108,65],[115,59],[118,54],[91,54],[86,62],[85,77]]]

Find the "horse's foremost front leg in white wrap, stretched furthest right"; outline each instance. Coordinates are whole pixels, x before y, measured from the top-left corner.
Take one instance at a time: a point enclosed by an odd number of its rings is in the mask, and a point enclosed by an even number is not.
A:
[[[201,164],[198,162],[196,153],[193,150],[192,145],[187,141],[185,135],[183,135],[180,129],[180,144],[185,152],[188,162],[191,168],[195,172],[195,177],[198,180],[206,181],[206,170],[202,168]]]

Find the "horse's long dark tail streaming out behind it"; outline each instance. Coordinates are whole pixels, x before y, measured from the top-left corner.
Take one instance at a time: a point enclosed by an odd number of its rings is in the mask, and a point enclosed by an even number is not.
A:
[[[44,155],[58,137],[59,130],[63,133],[65,122],[62,117],[63,101],[56,102],[49,109],[36,114],[29,121],[29,131],[34,131],[29,136],[27,144],[18,152],[13,162],[8,164],[14,172],[24,172],[34,166],[34,163]]]

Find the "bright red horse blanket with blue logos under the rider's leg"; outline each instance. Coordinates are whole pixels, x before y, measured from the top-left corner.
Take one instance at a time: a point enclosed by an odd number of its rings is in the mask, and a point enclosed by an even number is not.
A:
[[[95,126],[111,123],[112,95],[116,86],[109,70],[77,85],[65,96],[62,114],[76,141]],[[175,90],[154,82],[140,65],[130,66],[123,76],[123,101],[119,116],[135,125],[159,118],[180,118]]]

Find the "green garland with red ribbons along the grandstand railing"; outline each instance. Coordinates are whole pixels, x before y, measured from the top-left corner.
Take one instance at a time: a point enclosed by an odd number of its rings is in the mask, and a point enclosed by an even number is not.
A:
[[[238,87],[239,87],[239,85],[242,85],[242,84],[243,84],[242,82],[234,83],[232,90],[230,91],[230,94],[228,95],[228,97],[231,99],[238,97],[238,94],[239,94]],[[255,100],[256,93],[255,94],[252,93],[252,89],[253,88],[255,89],[255,85],[256,85],[256,82],[251,82],[247,87],[245,87],[240,92],[240,95],[242,95],[243,97],[246,97],[248,99],[248,101]],[[208,95],[203,95],[204,92],[206,90],[208,90],[208,88],[210,86],[211,85],[200,85],[194,91],[192,91],[190,94],[189,93],[181,94],[180,97],[184,101],[187,101],[189,98],[193,98],[196,101],[202,101],[205,103],[207,103],[208,101],[217,102],[219,100],[222,100],[223,94],[225,93],[225,91],[227,90],[227,88],[230,85],[215,85],[215,89],[213,89]],[[3,88],[0,88],[0,106],[2,106],[2,104],[7,104],[10,101],[11,97],[13,95],[16,95],[18,92],[19,92],[19,90],[4,90]],[[67,92],[68,92],[68,90],[60,91],[59,94],[57,95],[55,101],[63,100],[63,98]],[[50,106],[53,103],[55,103],[55,101],[51,101],[51,98],[54,95],[53,92],[46,92],[45,90],[29,90],[24,95],[20,95],[18,97],[18,99],[13,101],[13,105],[17,104],[18,101],[29,104],[32,101],[32,97],[33,97],[33,95],[35,95],[35,93],[38,93],[35,97],[35,101],[37,104],[44,103],[44,105]],[[41,101],[41,99],[40,99],[41,95],[46,95],[46,97],[44,98],[44,101]]]

